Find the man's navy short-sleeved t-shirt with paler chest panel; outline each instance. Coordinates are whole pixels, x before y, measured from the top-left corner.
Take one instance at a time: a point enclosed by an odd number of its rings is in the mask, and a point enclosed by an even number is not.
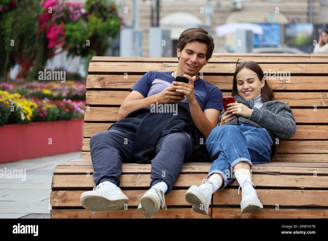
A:
[[[158,94],[175,81],[172,72],[148,71],[135,83],[130,92],[137,90],[145,98]],[[194,91],[195,98],[203,111],[206,109],[223,109],[222,92],[216,86],[205,82],[198,76],[198,79],[194,82]],[[186,99],[182,102],[188,103]]]

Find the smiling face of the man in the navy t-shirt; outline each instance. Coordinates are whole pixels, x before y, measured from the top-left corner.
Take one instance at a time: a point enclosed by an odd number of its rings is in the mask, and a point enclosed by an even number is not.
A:
[[[198,72],[208,62],[206,60],[206,51],[207,45],[196,40],[188,42],[182,51],[177,47],[176,54],[179,58],[178,73],[197,76]]]

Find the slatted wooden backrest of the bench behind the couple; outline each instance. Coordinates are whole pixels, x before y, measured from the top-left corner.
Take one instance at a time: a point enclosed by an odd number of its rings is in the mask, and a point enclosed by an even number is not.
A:
[[[282,142],[273,161],[293,160],[296,156],[305,161],[327,160],[328,58],[213,57],[201,70],[203,80],[217,86],[223,96],[231,96],[236,65],[245,60],[255,61],[263,71],[271,69],[271,73],[290,71],[290,82],[284,78],[268,81],[274,100],[288,104],[297,122],[296,135]],[[86,84],[81,157],[90,156],[90,137],[107,131],[118,120],[120,105],[143,74],[149,70],[174,71],[177,66],[177,58],[93,57]]]

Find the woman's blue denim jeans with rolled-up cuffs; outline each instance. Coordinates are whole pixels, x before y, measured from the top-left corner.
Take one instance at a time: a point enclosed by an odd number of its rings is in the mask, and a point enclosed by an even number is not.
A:
[[[224,189],[236,178],[233,168],[237,163],[247,162],[251,169],[253,164],[269,163],[272,143],[265,128],[248,124],[215,127],[205,142],[213,161],[207,179],[219,173],[224,185],[218,190]]]

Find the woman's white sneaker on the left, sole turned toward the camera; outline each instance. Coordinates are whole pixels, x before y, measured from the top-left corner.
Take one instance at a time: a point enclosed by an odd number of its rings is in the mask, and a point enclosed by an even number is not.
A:
[[[207,215],[214,190],[210,185],[203,184],[203,181],[215,185],[210,180],[204,178],[199,187],[194,185],[188,189],[185,199],[188,203],[193,205],[193,211]]]

